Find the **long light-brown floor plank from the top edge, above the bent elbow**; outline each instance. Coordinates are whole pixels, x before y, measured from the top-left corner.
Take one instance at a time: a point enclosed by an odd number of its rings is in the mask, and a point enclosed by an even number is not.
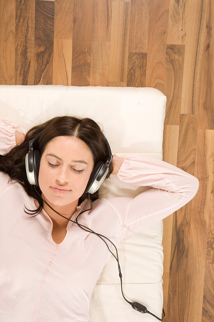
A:
[[[189,0],[181,113],[198,114],[208,0]]]

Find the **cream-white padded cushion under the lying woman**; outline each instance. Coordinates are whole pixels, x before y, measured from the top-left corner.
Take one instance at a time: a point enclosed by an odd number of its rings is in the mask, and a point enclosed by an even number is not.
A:
[[[93,118],[100,123],[111,152],[122,157],[136,153],[163,159],[165,104],[166,96],[150,87],[0,85],[1,118],[20,124],[25,132],[55,116]],[[151,188],[129,185],[111,175],[100,192],[105,193],[104,198],[134,198],[148,189]],[[159,318],[163,308],[162,238],[160,221],[115,245],[125,298],[145,305]],[[114,247],[113,253],[116,256]],[[158,321],[148,313],[134,310],[124,300],[113,255],[107,259],[94,287],[89,313],[92,322]]]

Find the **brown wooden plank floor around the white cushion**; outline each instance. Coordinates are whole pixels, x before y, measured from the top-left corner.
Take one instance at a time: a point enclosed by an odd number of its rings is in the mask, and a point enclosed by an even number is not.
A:
[[[200,181],[164,219],[167,322],[214,321],[213,83],[213,0],[0,0],[0,84],[166,95],[163,160]]]

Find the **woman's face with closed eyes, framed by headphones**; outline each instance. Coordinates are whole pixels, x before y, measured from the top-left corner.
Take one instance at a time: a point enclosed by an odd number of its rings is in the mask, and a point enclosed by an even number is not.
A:
[[[61,160],[48,154],[54,154]],[[83,160],[87,164],[74,162],[75,160]],[[93,167],[93,154],[84,141],[76,137],[54,137],[47,144],[40,160],[39,186],[42,196],[48,204],[59,206],[54,207],[55,210],[61,210],[62,214],[68,213],[72,209],[70,206],[77,204],[76,201],[84,193]],[[51,189],[54,185],[70,191],[57,194]]]

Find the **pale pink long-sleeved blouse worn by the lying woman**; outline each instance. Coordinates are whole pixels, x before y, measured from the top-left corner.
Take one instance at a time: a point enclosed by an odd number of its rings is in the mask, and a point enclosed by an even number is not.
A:
[[[16,146],[20,127],[0,120],[0,154]],[[78,223],[117,245],[129,235],[164,219],[187,204],[197,193],[199,180],[156,158],[130,154],[117,177],[135,186],[152,189],[135,198],[98,198]],[[56,244],[52,220],[42,212],[30,218],[24,213],[38,202],[23,187],[0,172],[0,320],[4,322],[90,322],[89,302],[94,286],[111,253],[97,235],[68,221],[65,239]],[[71,219],[89,209],[85,199]],[[103,238],[114,252],[114,246]]]

